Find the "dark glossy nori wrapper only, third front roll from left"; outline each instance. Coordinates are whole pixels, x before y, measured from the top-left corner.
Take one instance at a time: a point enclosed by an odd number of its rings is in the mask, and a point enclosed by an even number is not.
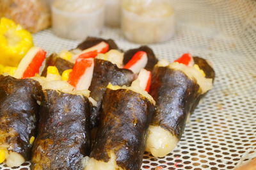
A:
[[[118,166],[140,169],[153,113],[154,105],[139,93],[128,89],[107,89],[90,157],[108,162],[108,153],[112,151]]]

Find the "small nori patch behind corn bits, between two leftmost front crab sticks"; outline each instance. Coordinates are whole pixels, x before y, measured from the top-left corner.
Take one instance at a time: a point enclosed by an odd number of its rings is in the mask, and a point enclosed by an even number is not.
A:
[[[43,77],[46,77],[46,75],[47,75],[47,67],[48,66],[56,66],[61,75],[65,70],[72,69],[74,66],[74,63],[71,63],[70,61],[67,61],[66,59],[60,58],[56,53],[53,53],[45,61],[45,67],[41,74]]]

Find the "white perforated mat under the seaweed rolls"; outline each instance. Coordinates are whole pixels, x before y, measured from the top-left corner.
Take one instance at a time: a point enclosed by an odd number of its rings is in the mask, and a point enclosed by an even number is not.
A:
[[[256,157],[256,1],[175,0],[177,30],[172,40],[150,45],[169,61],[184,52],[214,64],[214,88],[191,116],[179,146],[164,158],[144,155],[142,169],[234,169]],[[119,29],[104,28],[127,50]],[[48,54],[72,49],[77,43],[57,38],[51,30],[35,36]],[[29,164],[13,169],[29,169]],[[0,169],[7,169],[3,165]]]

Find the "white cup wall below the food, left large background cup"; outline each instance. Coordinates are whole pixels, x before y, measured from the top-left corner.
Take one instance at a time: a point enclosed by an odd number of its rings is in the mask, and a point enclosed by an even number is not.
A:
[[[65,12],[52,6],[52,30],[60,37],[84,40],[99,36],[104,25],[104,7],[93,12]]]

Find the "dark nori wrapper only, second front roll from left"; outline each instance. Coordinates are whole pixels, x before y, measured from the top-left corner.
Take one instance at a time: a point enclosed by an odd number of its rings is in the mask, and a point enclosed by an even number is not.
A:
[[[32,169],[83,169],[81,159],[90,153],[90,105],[80,95],[44,91]]]

